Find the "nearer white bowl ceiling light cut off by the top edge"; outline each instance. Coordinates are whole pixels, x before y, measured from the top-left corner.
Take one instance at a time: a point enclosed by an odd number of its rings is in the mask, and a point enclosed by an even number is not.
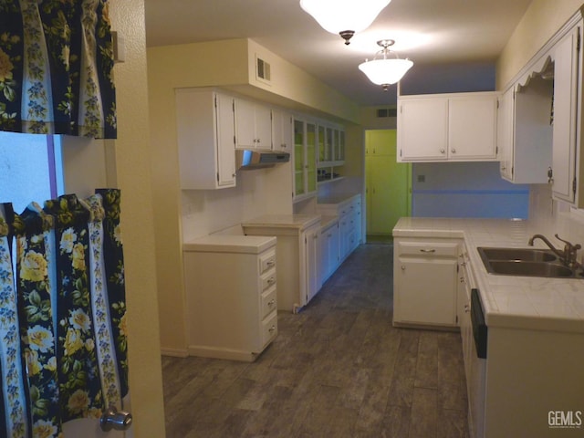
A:
[[[331,34],[339,34],[349,45],[349,39],[365,30],[391,0],[300,0],[300,7]]]

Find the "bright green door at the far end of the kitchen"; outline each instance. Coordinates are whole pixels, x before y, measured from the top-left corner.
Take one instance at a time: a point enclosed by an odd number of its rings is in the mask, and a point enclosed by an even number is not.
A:
[[[397,162],[396,130],[365,131],[367,235],[390,236],[412,212],[412,165]]]

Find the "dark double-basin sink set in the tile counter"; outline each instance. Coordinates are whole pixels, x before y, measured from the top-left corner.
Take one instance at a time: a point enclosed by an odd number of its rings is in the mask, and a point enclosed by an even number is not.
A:
[[[584,278],[581,269],[561,263],[558,255],[547,249],[478,247],[486,271],[501,276],[544,276],[548,278]]]

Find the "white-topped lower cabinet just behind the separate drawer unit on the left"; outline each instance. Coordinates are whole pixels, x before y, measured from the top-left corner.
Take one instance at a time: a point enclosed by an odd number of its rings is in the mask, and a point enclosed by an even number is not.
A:
[[[294,313],[318,293],[319,214],[266,214],[242,223],[245,235],[276,236],[277,308]]]

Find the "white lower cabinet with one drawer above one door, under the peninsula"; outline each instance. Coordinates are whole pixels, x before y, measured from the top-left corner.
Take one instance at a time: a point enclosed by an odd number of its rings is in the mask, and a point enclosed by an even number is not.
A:
[[[396,238],[393,324],[456,326],[459,242]]]

